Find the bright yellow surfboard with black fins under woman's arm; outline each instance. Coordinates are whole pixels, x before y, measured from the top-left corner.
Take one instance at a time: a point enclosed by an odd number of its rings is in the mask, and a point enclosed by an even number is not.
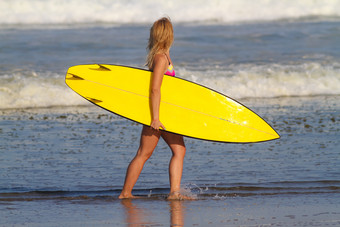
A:
[[[152,72],[118,65],[70,67],[66,84],[88,101],[135,122],[150,125]],[[261,117],[239,102],[199,84],[164,76],[160,120],[166,131],[233,143],[278,139]]]

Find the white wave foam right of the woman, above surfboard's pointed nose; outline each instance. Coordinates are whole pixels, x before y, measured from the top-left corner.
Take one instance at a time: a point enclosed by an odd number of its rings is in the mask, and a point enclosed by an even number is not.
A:
[[[340,67],[301,65],[237,65],[208,71],[181,70],[181,76],[232,98],[340,95]]]

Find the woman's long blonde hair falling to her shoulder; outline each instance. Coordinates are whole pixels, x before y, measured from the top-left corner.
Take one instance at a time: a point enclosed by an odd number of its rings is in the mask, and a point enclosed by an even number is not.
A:
[[[150,38],[148,43],[148,56],[146,65],[151,69],[156,54],[165,53],[172,45],[174,40],[174,31],[170,18],[163,17],[155,21],[150,29]]]

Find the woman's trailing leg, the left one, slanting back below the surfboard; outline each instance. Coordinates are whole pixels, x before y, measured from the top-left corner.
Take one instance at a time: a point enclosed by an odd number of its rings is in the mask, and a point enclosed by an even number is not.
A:
[[[119,196],[120,199],[134,197],[131,193],[133,186],[136,184],[145,162],[151,157],[159,141],[160,135],[160,131],[143,126],[140,145],[136,156],[132,159],[127,168],[124,187]]]

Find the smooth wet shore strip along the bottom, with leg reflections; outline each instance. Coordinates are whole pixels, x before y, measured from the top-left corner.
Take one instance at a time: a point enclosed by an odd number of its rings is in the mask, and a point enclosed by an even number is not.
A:
[[[339,226],[339,194],[12,202],[0,226]],[[37,218],[40,217],[40,218]]]

